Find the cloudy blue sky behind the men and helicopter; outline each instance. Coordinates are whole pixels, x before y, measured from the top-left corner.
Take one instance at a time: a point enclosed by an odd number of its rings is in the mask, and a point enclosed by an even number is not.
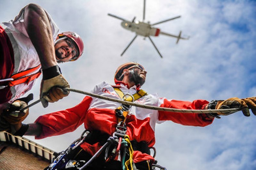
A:
[[[220,0],[148,0],[146,21],[151,23],[182,17],[157,25],[164,32],[188,41],[166,36],[152,37],[163,55],[161,59],[148,39],[134,37],[124,30],[112,13],[125,19],[142,20],[142,0],[94,1],[9,1],[0,0],[1,21],[9,21],[28,3],[43,6],[60,27],[75,31],[84,39],[81,59],[60,67],[71,88],[90,91],[102,81],[113,82],[117,66],[137,61],[148,71],[143,89],[161,97],[192,101],[256,96],[256,2]],[[40,80],[31,92],[38,97]],[[44,109],[31,107],[26,123],[39,115],[78,104],[83,95],[70,93]],[[212,125],[189,127],[171,121],[156,126],[156,159],[167,169],[253,170],[256,167],[256,117],[241,112],[214,120]],[[78,138],[83,126],[65,135],[35,140],[54,151],[64,150]],[[27,137],[34,140],[33,137]]]

